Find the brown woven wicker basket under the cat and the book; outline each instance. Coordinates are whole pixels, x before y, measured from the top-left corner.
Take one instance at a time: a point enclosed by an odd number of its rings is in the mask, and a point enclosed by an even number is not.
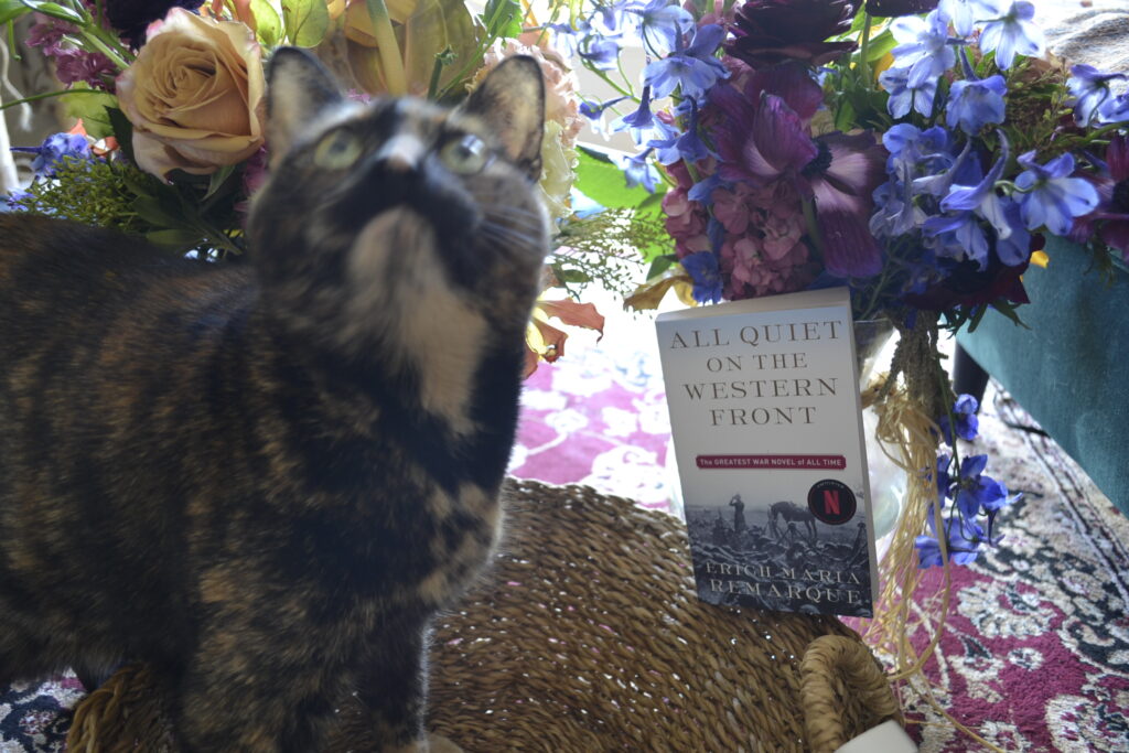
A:
[[[437,622],[429,727],[466,751],[833,751],[898,704],[838,620],[694,596],[684,526],[585,487],[507,484],[491,577]],[[70,751],[170,748],[146,669],[82,700]],[[353,709],[331,751],[369,751]]]

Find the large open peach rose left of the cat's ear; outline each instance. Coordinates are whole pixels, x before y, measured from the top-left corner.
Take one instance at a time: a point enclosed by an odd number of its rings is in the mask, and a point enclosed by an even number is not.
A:
[[[263,145],[264,89],[251,29],[173,8],[117,78],[138,165],[165,177],[243,161]]]

